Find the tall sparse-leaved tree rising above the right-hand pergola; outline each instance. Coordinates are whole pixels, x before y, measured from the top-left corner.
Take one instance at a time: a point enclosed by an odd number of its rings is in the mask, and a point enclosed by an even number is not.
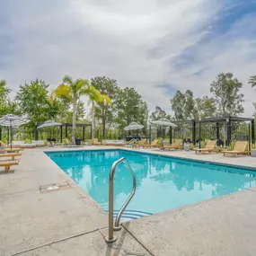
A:
[[[210,85],[210,92],[216,100],[216,110],[222,116],[236,116],[244,112],[243,84],[232,73],[221,73]]]

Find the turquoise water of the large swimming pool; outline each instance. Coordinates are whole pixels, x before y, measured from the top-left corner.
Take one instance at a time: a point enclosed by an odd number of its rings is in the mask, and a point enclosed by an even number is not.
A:
[[[123,216],[134,219],[256,186],[256,172],[127,150],[46,153],[103,209],[108,210],[111,164],[125,157],[136,174],[137,191]],[[132,177],[120,163],[114,180],[114,209],[132,190]]]

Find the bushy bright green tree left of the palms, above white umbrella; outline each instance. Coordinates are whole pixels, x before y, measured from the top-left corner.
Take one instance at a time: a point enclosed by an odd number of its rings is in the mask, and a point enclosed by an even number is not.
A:
[[[53,104],[49,97],[49,84],[43,80],[31,81],[30,84],[20,85],[16,95],[22,114],[26,114],[31,120],[28,126],[36,128],[40,122],[55,118],[57,110],[53,108]],[[54,107],[56,107],[54,105]]]

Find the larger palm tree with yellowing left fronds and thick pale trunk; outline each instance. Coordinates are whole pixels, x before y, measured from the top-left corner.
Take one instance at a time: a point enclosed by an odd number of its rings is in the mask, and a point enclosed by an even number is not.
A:
[[[73,104],[72,116],[72,144],[75,145],[75,118],[77,103],[82,95],[87,95],[90,88],[90,83],[85,79],[73,80],[69,75],[63,78],[63,84],[60,84],[55,93],[57,97],[64,97]]]

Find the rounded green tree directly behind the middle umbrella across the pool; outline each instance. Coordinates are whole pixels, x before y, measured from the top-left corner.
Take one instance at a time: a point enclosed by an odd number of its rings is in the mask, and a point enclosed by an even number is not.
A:
[[[146,102],[134,88],[119,90],[117,98],[117,123],[120,128],[128,126],[132,121],[146,124],[147,106]]]

